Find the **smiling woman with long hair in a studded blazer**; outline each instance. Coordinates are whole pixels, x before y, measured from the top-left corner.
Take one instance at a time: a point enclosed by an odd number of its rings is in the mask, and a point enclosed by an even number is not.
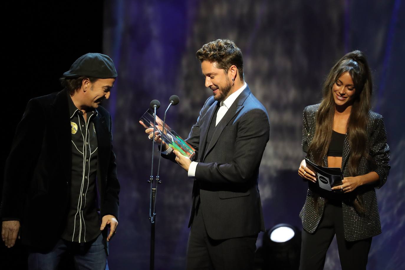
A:
[[[375,188],[388,176],[390,149],[383,117],[370,110],[371,73],[361,51],[343,56],[330,70],[321,103],[303,112],[302,148],[317,165],[338,167],[343,180],[325,191],[301,162],[298,175],[308,180],[300,269],[323,269],[336,234],[343,270],[366,269],[373,236],[381,233]]]

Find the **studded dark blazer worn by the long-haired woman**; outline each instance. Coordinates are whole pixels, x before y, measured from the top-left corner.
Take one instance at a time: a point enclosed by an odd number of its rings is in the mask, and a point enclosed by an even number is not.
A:
[[[307,158],[314,161],[313,155],[308,153],[308,147],[315,135],[316,114],[320,104],[309,105],[303,112],[303,139],[302,149],[307,153]],[[387,181],[390,170],[388,161],[390,160],[390,148],[387,144],[387,133],[383,117],[380,114],[370,111],[367,122],[367,149],[373,158],[371,162],[363,156],[358,166],[358,175],[364,175],[375,171],[379,180],[372,184],[360,186],[354,190],[366,209],[365,213],[359,214],[349,200],[342,201],[343,228],[347,241],[356,241],[369,238],[381,233],[381,222],[378,213],[377,197],[375,188],[381,188]],[[347,167],[347,159],[350,156],[350,146],[346,134],[343,144],[342,171],[344,177],[351,176]],[[324,163],[328,166],[327,156],[324,156]],[[353,193],[353,192],[350,192]],[[344,196],[349,196],[345,193]],[[350,194],[353,196],[353,194]],[[317,201],[317,207],[315,207]],[[303,228],[308,233],[315,232],[323,215],[326,199],[316,194],[316,191],[309,188],[303,209],[300,212]]]

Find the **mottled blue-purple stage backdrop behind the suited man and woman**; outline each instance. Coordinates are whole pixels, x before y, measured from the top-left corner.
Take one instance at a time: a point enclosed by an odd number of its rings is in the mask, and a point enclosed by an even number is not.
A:
[[[260,167],[266,227],[290,223],[307,184],[297,175],[302,111],[318,103],[322,82],[348,51],[366,53],[373,70],[373,110],[385,119],[392,169],[377,190],[383,233],[373,238],[369,270],[404,269],[405,137],[403,128],[404,3],[394,1],[106,1],[104,53],[118,78],[105,104],[113,116],[120,194],[118,233],[111,242],[111,269],[149,267],[150,144],[138,123],[151,99],[162,115],[168,97],[180,103],[167,121],[187,137],[204,101],[195,52],[217,38],[234,40],[245,61],[245,79],[269,112],[271,138]],[[402,119],[402,120],[400,120]],[[156,269],[183,269],[192,180],[162,161],[156,203]],[[259,235],[258,246],[261,245]],[[340,269],[335,242],[325,269]]]

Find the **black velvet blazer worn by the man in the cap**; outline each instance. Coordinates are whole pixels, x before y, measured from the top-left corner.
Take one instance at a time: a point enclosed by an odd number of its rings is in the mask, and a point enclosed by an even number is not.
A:
[[[93,121],[98,143],[100,213],[118,219],[119,183],[111,116],[101,106],[97,111]],[[25,245],[50,249],[65,228],[70,204],[70,129],[66,89],[31,99],[17,126],[5,166],[0,215],[3,220],[21,221],[21,241]]]

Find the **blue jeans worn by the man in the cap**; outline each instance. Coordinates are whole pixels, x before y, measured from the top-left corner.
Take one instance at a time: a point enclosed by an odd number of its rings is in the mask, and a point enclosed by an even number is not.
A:
[[[107,254],[102,243],[102,234],[88,243],[72,243],[60,239],[48,253],[30,252],[28,254],[29,270],[56,270],[66,254],[73,257],[78,270],[108,270]]]

